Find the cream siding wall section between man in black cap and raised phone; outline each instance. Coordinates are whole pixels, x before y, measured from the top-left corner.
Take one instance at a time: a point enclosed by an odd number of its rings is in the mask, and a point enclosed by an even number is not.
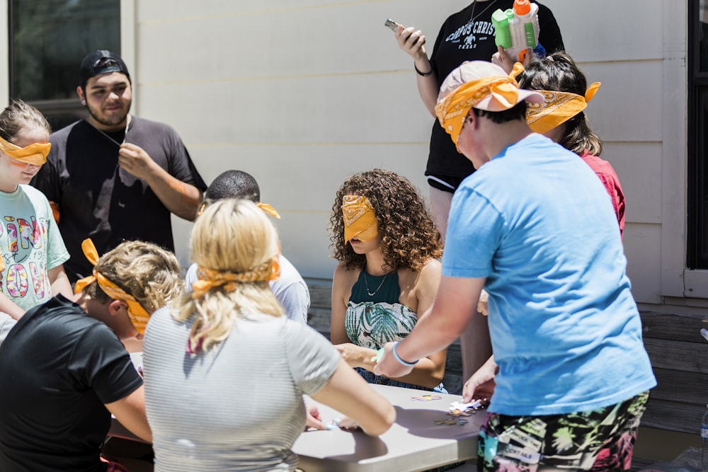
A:
[[[135,5],[137,112],[176,127],[205,180],[229,168],[256,176],[262,200],[282,214],[283,252],[304,276],[331,277],[326,226],[346,175],[389,168],[427,195],[433,117],[383,23],[416,24],[432,45],[462,2]]]

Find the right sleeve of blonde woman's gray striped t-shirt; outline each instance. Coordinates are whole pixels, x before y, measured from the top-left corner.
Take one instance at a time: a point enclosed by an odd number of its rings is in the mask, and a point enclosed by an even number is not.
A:
[[[317,393],[336,371],[341,354],[323,335],[302,323],[287,323],[285,352],[295,385]]]

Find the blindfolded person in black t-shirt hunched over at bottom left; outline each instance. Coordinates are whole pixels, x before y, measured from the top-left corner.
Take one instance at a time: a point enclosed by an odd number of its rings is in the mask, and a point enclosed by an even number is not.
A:
[[[0,471],[106,471],[110,413],[152,441],[142,379],[122,343],[142,338],[136,313],[183,292],[180,265],[169,251],[129,241],[99,259],[95,274],[79,304],[59,295],[17,322],[0,318],[0,333],[15,323],[0,338]]]

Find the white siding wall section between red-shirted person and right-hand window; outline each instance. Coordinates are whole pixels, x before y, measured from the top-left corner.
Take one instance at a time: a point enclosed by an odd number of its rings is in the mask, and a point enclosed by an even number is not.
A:
[[[588,115],[627,197],[634,296],[683,297],[686,214],[685,2],[547,0],[566,49],[603,83]]]

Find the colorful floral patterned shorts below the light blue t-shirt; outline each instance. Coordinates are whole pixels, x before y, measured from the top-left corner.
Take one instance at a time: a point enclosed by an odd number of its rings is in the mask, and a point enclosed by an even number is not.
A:
[[[488,413],[479,432],[477,471],[629,471],[649,392],[564,415]]]

